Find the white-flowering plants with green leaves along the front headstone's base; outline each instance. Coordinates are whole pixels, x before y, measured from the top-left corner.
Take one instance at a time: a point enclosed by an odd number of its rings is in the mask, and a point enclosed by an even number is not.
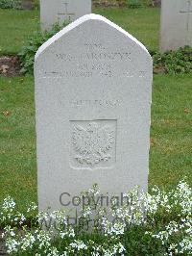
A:
[[[82,195],[91,199],[73,224],[64,210],[37,213],[33,203],[21,214],[13,199],[6,198],[0,206],[0,225],[7,253],[192,255],[192,189],[185,181],[171,192],[136,188],[124,194],[126,204],[119,206],[114,200],[108,209],[95,203],[96,185]]]

